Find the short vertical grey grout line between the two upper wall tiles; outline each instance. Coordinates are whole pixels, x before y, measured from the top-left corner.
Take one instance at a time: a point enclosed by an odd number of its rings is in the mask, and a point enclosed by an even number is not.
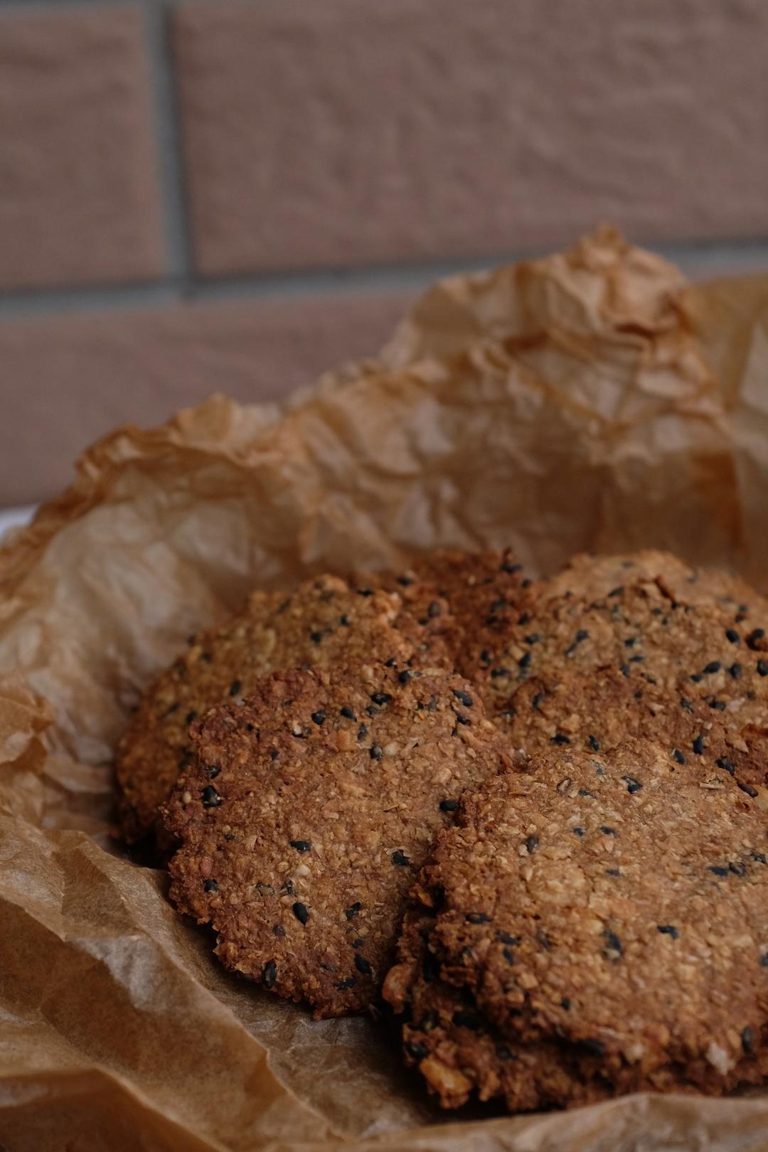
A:
[[[184,280],[190,274],[190,234],[177,93],[168,36],[169,15],[170,5],[166,0],[144,0],[144,30],[153,89],[166,255],[172,278]]]

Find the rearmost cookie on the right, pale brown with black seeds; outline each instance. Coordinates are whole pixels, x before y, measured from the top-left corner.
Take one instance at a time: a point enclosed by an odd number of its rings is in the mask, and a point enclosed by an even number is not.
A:
[[[653,554],[657,555],[657,554]],[[592,676],[613,668],[637,683],[704,700],[713,710],[738,713],[738,723],[761,723],[768,699],[768,615],[761,601],[723,599],[725,577],[713,576],[718,592],[676,599],[679,561],[668,564],[628,559],[584,560],[570,586],[561,577],[545,583],[535,605],[507,630],[503,650],[479,682],[492,714],[512,707],[520,683],[532,676],[556,680],[567,672]],[[623,583],[606,594],[606,570],[621,562]],[[588,564],[594,567],[588,567]],[[684,570],[684,569],[683,569]],[[687,586],[687,585],[680,585]],[[594,593],[601,594],[593,598]],[[733,718],[735,720],[737,718]]]

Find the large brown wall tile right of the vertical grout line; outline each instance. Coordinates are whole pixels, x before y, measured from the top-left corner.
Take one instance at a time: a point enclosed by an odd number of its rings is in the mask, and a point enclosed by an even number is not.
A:
[[[175,51],[197,267],[768,230],[763,0],[220,0]]]

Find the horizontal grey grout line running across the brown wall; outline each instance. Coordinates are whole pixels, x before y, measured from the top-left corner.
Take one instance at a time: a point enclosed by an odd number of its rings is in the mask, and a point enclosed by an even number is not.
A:
[[[2,0],[0,0],[0,3]],[[768,272],[768,240],[714,241],[644,245],[678,265],[690,276],[729,272]],[[83,288],[0,291],[0,320],[73,312],[111,312],[184,302],[216,303],[237,300],[290,300],[324,293],[421,290],[443,276],[481,271],[539,252],[496,252],[474,258],[420,260],[412,264],[363,268],[296,270],[189,280],[183,274],[134,285],[93,285]]]

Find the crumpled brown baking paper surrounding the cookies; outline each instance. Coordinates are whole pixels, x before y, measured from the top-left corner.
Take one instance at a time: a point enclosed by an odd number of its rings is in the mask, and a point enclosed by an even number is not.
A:
[[[457,276],[284,408],[121,429],[0,550],[0,1144],[10,1152],[758,1152],[768,1098],[440,1113],[385,1029],[214,962],[108,835],[129,707],[253,585],[512,544],[672,548],[768,586],[768,278],[610,229]]]

